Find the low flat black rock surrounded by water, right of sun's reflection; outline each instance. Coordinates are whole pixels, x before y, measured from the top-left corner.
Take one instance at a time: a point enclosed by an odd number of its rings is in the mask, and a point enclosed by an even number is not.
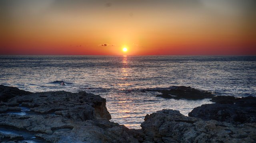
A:
[[[157,89],[154,91],[161,92],[162,94],[157,95],[157,97],[163,98],[198,100],[213,97],[211,92],[197,90],[195,88],[191,88],[190,86],[171,86],[170,89]]]

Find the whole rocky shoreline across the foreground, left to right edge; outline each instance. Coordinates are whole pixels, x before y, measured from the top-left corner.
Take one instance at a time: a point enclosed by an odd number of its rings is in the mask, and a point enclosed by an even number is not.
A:
[[[204,91],[197,94],[197,90],[186,86],[175,89],[179,88],[193,94],[181,92],[178,98],[210,97],[216,104],[194,108],[191,117],[176,110],[158,111],[145,116],[142,129],[128,129],[109,121],[106,99],[98,95],[64,91],[32,93],[0,85],[0,142],[256,142],[255,97],[213,97]]]

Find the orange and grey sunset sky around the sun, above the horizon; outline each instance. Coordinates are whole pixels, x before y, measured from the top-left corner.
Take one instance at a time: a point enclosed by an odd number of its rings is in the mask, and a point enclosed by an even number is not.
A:
[[[0,0],[0,20],[1,55],[256,55],[256,0]]]

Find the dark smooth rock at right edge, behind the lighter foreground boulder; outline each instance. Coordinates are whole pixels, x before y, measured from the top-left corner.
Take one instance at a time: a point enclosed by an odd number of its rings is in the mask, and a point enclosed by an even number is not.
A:
[[[188,116],[232,124],[256,123],[256,97],[217,96],[212,101],[218,103],[196,107]]]

